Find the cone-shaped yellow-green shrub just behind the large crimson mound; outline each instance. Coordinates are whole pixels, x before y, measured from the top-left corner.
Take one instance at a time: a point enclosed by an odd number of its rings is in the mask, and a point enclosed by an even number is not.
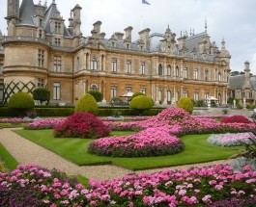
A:
[[[89,112],[97,115],[99,106],[93,95],[85,93],[76,103],[74,112]]]

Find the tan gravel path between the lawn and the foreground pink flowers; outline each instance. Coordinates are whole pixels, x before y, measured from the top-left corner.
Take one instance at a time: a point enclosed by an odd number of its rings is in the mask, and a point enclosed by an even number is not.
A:
[[[81,174],[87,178],[94,178],[96,180],[114,179],[134,172],[126,168],[119,168],[112,165],[78,167],[59,155],[44,149],[42,146],[20,137],[15,134],[12,129],[0,129],[0,142],[14,156],[20,165],[38,164],[43,168],[57,168],[70,175]],[[215,161],[205,164],[172,167],[170,169],[187,169],[191,167],[211,166],[227,162],[228,161]],[[166,168],[138,170],[135,172],[153,173],[162,169]]]

